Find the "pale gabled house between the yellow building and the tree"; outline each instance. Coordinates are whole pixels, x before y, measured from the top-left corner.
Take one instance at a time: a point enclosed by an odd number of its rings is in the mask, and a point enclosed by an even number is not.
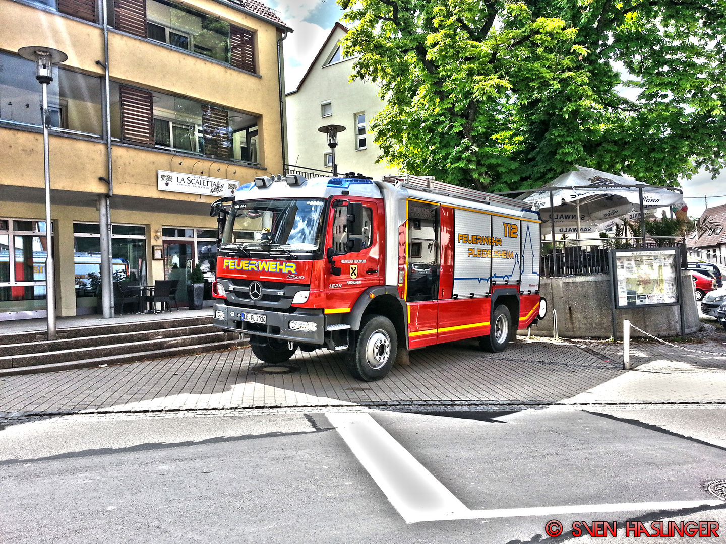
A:
[[[338,173],[354,171],[380,178],[399,172],[376,163],[380,149],[372,141],[369,123],[386,105],[380,88],[368,81],[348,81],[356,57],[343,57],[340,41],[348,28],[336,22],[317,56],[298,83],[287,93],[287,145],[291,165],[332,171],[333,161],[324,133],[318,128],[342,125],[335,162]]]

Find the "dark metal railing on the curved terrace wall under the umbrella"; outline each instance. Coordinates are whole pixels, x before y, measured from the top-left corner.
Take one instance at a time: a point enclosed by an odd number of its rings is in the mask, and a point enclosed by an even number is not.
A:
[[[586,276],[610,273],[610,250],[651,249],[655,247],[677,247],[681,260],[686,262],[685,239],[680,236],[646,236],[645,243],[640,237],[600,238],[580,240],[558,240],[542,243],[540,274],[544,278],[558,276]]]

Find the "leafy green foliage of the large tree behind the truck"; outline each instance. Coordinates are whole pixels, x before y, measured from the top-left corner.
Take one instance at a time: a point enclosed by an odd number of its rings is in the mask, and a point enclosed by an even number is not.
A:
[[[725,0],[338,1],[387,101],[375,141],[409,173],[503,191],[725,162]]]

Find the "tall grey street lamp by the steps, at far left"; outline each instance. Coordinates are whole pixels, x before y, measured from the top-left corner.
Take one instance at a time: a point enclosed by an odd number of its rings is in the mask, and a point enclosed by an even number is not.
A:
[[[55,270],[53,263],[53,224],[50,218],[50,156],[48,151],[48,84],[53,81],[53,65],[65,62],[68,55],[50,47],[21,47],[17,54],[36,63],[36,79],[43,88],[43,159],[45,162],[46,190],[46,313],[48,339],[56,339],[55,328]]]

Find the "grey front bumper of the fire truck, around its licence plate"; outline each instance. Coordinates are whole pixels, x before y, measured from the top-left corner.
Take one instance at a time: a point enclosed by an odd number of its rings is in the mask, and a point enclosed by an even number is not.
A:
[[[242,321],[243,313],[256,313],[265,316],[265,324]],[[290,321],[307,321],[315,323],[314,331],[298,331],[290,329]],[[298,308],[295,312],[274,312],[261,308],[240,308],[229,306],[224,302],[214,303],[213,322],[227,331],[244,332],[251,336],[272,337],[303,344],[322,345],[325,341],[325,316],[322,310]]]

